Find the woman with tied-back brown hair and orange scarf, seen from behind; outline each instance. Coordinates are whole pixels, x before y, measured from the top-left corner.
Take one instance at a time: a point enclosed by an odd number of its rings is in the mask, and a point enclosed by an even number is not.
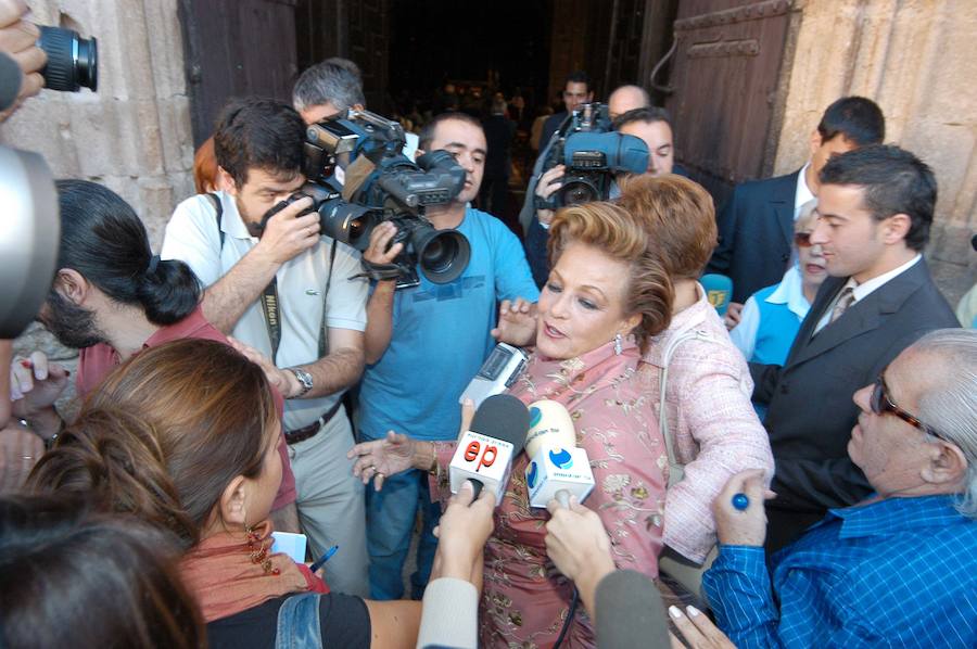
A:
[[[167,343],[128,360],[88,397],[28,486],[85,493],[173,532],[211,647],[272,647],[286,628],[282,637],[303,647],[414,647],[419,602],[328,593],[306,565],[270,551],[281,406],[264,371],[231,347]],[[467,505],[459,502],[460,516]],[[484,543],[473,536],[447,540],[453,556],[439,563],[441,576],[471,581]]]

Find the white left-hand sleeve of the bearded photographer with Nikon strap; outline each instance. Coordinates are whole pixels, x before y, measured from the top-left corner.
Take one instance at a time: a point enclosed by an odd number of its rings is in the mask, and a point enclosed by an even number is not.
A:
[[[204,288],[221,278],[220,227],[214,205],[205,194],[177,205],[166,224],[160,258],[185,262]]]

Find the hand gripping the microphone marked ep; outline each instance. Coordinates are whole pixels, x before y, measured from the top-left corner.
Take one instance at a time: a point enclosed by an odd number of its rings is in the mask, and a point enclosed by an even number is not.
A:
[[[441,523],[434,527],[437,553],[434,555],[431,578],[455,577],[482,589],[482,551],[495,526],[494,511],[495,494],[482,489],[474,499],[471,482],[466,480],[448,500]]]

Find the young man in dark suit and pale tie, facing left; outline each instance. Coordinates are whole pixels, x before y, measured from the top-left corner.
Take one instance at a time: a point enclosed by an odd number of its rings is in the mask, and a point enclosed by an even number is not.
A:
[[[833,157],[819,180],[811,243],[830,277],[784,366],[750,365],[776,461],[769,551],[868,495],[847,454],[859,418],[851,395],[924,333],[959,326],[922,256],[937,195],[929,167],[873,145]]]

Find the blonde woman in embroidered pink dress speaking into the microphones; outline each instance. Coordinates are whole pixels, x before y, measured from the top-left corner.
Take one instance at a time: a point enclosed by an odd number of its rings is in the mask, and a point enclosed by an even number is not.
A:
[[[548,398],[567,407],[594,472],[584,506],[600,517],[617,567],[654,578],[667,455],[637,366],[648,339],[669,324],[671,284],[640,222],[609,203],[561,211],[550,229],[550,256],[553,270],[529,332],[537,346],[511,394],[525,404]],[[531,321],[526,316],[524,326]],[[378,489],[384,476],[418,468],[432,472],[432,494],[446,499],[454,446],[391,432],[351,455],[359,456],[357,474]],[[573,584],[546,556],[549,514],[530,508],[528,462],[524,454],[513,462],[485,546],[481,644],[550,647],[567,624],[563,647],[593,647],[593,624],[582,605],[567,622]]]

